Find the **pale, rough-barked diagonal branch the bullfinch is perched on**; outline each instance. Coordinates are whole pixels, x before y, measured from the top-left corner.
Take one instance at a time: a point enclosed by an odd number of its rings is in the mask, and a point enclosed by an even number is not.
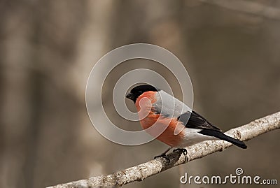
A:
[[[244,126],[225,132],[229,136],[233,136],[239,140],[250,140],[262,133],[280,128],[280,112],[267,115],[255,120]],[[221,152],[232,144],[223,140],[204,141],[196,145],[187,147],[188,154],[184,156],[181,152],[172,152],[167,155],[170,159],[162,157],[118,171],[110,175],[101,175],[87,180],[78,180],[66,184],[55,185],[48,188],[68,188],[68,187],[116,187],[126,185],[134,181],[142,181],[152,175],[165,171],[180,164],[186,164],[188,161],[200,159],[214,152]]]

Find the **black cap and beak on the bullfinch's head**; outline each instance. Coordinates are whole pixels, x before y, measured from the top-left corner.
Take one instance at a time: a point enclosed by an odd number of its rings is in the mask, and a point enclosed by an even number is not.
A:
[[[139,85],[139,86],[133,87],[130,90],[130,93],[128,93],[125,97],[127,99],[130,99],[130,100],[134,101],[134,103],[135,103],[138,96],[140,96],[144,92],[150,92],[150,91],[158,92],[158,91],[160,91],[160,89],[155,88],[152,85]]]

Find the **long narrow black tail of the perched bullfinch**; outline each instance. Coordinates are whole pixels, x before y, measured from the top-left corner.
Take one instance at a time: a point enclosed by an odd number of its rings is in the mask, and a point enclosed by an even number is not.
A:
[[[247,148],[247,146],[245,145],[244,142],[242,142],[240,140],[237,140],[235,138],[232,138],[230,136],[226,136],[221,131],[216,131],[216,130],[212,130],[212,129],[203,129],[199,133],[202,133],[202,134],[207,135],[207,136],[214,136],[216,138],[220,138],[221,140],[228,141],[228,142],[230,142],[230,143],[232,143],[234,145],[237,145],[238,147],[241,147],[243,149]]]

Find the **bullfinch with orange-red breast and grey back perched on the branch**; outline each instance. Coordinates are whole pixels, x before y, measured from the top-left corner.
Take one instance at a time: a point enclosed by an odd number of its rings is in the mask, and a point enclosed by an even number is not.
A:
[[[166,127],[165,131],[157,136],[157,139],[170,147],[157,157],[165,157],[172,147],[176,147],[178,148],[176,150],[181,150],[186,154],[186,149],[182,147],[188,147],[204,140],[221,139],[243,149],[247,148],[243,142],[225,135],[221,129],[161,89],[151,85],[139,85],[131,89],[126,97],[134,101],[143,129],[148,130],[155,122],[159,126]],[[179,133],[176,133],[176,129],[180,130]],[[155,136],[153,131],[147,132]]]

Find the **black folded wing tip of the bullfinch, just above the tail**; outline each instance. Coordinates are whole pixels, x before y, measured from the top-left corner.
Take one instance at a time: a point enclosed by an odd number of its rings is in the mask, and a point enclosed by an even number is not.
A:
[[[183,122],[183,124],[188,128],[193,129],[212,129],[216,131],[221,131],[218,127],[214,126],[210,122],[208,122],[204,117],[193,112],[183,113],[177,118],[178,121]]]

